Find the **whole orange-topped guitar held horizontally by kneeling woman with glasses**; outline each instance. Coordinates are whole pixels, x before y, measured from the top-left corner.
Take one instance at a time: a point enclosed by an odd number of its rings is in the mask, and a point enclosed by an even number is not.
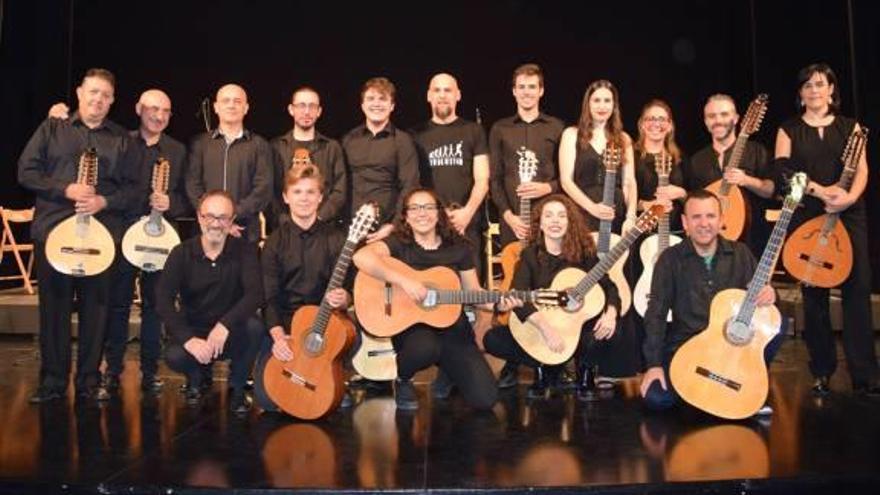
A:
[[[385,264],[423,283],[428,287],[428,295],[416,303],[397,285],[358,272],[354,280],[355,313],[361,325],[377,337],[397,335],[416,323],[446,328],[461,316],[463,304],[495,303],[505,296],[541,306],[566,302],[565,293],[551,290],[462,290],[458,274],[445,266],[415,270],[390,257],[385,258]]]

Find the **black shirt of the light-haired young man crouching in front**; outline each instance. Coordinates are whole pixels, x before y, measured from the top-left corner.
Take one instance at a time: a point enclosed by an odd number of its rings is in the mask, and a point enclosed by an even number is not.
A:
[[[281,326],[288,332],[297,309],[321,304],[344,244],[345,235],[330,223],[318,220],[303,230],[290,215],[282,217],[278,229],[266,240],[261,259],[266,328]],[[348,289],[353,271],[348,270],[343,284]]]

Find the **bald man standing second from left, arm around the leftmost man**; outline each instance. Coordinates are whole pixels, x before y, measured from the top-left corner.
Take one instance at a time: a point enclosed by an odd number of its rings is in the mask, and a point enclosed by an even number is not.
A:
[[[49,116],[67,119],[68,112],[67,105],[56,103],[49,109]],[[192,213],[192,206],[186,197],[183,184],[186,147],[165,133],[171,120],[171,98],[162,90],[148,89],[138,99],[135,113],[140,119],[140,125],[129,134],[132,137],[133,148],[141,156],[139,190],[145,194],[141,198],[136,198],[136,208],[126,215],[125,229],[153,208],[162,212],[172,225],[175,225],[174,219],[189,216]],[[170,164],[168,192],[150,194],[153,165],[160,157],[168,160]],[[135,267],[122,256],[116,257],[110,272],[110,286],[113,290],[110,292],[104,341],[104,359],[107,361],[104,387],[109,392],[119,389],[119,376],[124,370],[128,324],[137,273]],[[160,392],[163,385],[156,376],[162,337],[162,327],[155,309],[155,286],[158,279],[159,272],[140,272],[143,301],[140,328],[141,388],[151,393]]]

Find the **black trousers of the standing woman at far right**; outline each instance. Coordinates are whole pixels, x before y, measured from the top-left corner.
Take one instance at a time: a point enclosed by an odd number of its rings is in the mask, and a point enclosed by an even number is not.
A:
[[[871,321],[871,260],[868,258],[868,221],[864,208],[841,215],[852,241],[853,269],[841,285],[843,297],[843,352],[853,386],[864,386],[880,379],[874,351],[874,325]],[[804,298],[804,339],[810,351],[813,376],[831,376],[837,369],[837,345],[831,331],[829,290],[802,287]]]

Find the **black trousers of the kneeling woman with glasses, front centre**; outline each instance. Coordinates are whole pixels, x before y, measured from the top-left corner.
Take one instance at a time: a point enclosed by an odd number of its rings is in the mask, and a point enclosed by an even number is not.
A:
[[[436,364],[471,407],[489,409],[495,404],[495,377],[464,315],[444,330],[413,325],[392,337],[391,342],[397,353],[398,378],[409,380],[416,372]]]

